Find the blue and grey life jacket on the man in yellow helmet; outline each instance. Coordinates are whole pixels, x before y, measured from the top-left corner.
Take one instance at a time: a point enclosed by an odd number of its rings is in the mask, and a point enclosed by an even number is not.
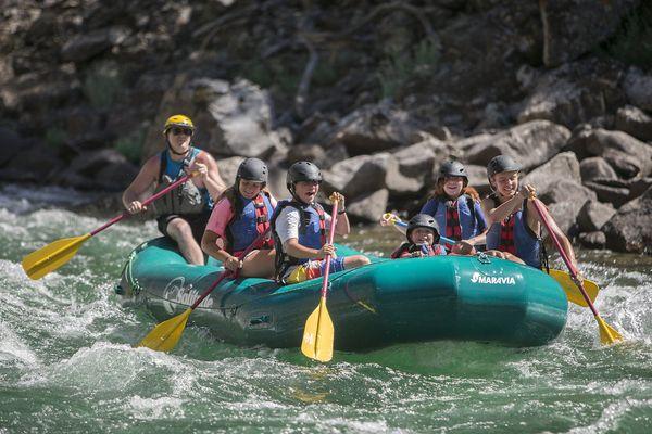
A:
[[[170,156],[168,150],[161,152],[159,179],[155,192],[159,192],[183,177],[184,168],[192,164],[192,161],[201,151],[196,148],[190,148],[188,155],[180,161],[175,162]],[[156,216],[168,214],[200,214],[211,210],[213,201],[205,188],[198,188],[191,179],[180,186],[172,189],[163,197],[154,202],[154,214]]]

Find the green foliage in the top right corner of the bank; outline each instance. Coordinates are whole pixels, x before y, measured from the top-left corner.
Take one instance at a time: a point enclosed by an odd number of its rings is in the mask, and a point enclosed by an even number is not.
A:
[[[629,14],[602,51],[627,65],[652,68],[652,3],[643,2]]]

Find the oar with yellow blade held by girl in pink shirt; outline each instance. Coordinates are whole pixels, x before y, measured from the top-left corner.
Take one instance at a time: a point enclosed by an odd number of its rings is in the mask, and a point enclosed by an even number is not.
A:
[[[249,247],[247,247],[244,251],[242,251],[242,253],[240,253],[236,257],[238,259],[242,259],[244,256],[247,256],[249,254],[249,252],[251,252],[254,248],[254,246],[258,245],[258,243],[264,237],[267,235],[268,232],[269,232],[269,228],[267,228],[266,231],[261,233],[253,241],[253,243],[251,243],[249,245]],[[201,304],[201,302],[203,302],[203,299],[205,297],[208,297],[209,294],[211,294],[215,288],[217,288],[220,282],[222,282],[224,279],[226,279],[227,277],[230,277],[230,276],[236,278],[237,271],[233,272],[233,271],[224,270],[224,272],[222,272],[222,275],[209,286],[209,289],[205,290],[204,293],[201,294],[201,296],[199,298],[197,298],[197,301],[192,304],[192,306],[190,306],[188,309],[186,309],[183,314],[179,314],[175,317],[172,317],[172,318],[156,324],[156,327],[154,327],[154,330],[149,332],[148,335],[145,336],[142,339],[142,341],[140,341],[140,343],[138,343],[138,345],[136,345],[136,347],[146,346],[150,349],[154,349],[154,350],[159,350],[159,352],[170,352],[170,350],[174,349],[177,342],[179,342],[179,339],[181,339],[181,334],[184,333],[184,330],[186,329],[186,322],[188,322],[188,317],[190,316],[192,310],[195,310],[197,308],[197,306],[199,306]]]

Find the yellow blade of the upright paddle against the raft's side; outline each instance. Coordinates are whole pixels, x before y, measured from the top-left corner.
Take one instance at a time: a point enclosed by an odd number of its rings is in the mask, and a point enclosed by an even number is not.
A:
[[[319,299],[319,306],[308,317],[303,329],[301,353],[305,357],[318,361],[329,361],[333,358],[333,341],[335,329],[326,308],[326,298]]]

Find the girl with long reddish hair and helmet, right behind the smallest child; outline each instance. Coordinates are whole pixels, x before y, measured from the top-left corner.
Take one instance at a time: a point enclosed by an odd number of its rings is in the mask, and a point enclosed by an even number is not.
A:
[[[488,225],[480,196],[473,187],[468,187],[466,168],[460,162],[448,161],[439,167],[435,191],[419,214],[434,217],[443,228],[443,235],[457,241],[454,245],[446,244],[453,254],[475,254],[475,245],[485,244]],[[381,226],[388,224],[385,218],[380,219]]]

